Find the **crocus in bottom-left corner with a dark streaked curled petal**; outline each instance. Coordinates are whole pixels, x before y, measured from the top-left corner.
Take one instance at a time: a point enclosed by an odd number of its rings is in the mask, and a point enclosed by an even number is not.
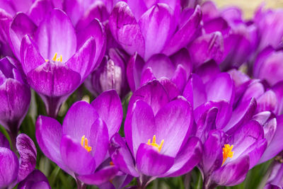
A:
[[[36,164],[36,149],[33,140],[26,134],[19,134],[16,139],[16,153],[11,151],[8,140],[0,133],[0,188],[13,188],[23,181]]]

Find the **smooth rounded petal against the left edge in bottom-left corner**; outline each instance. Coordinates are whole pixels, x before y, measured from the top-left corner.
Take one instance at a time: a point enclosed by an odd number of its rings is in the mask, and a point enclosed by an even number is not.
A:
[[[0,147],[0,187],[7,188],[16,181],[18,174],[18,157],[10,149]]]

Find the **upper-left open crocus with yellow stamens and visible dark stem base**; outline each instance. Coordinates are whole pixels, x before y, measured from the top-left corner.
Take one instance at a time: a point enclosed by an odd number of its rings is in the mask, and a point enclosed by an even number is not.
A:
[[[93,27],[101,31],[99,23]],[[98,36],[103,32],[98,32]],[[99,38],[99,37],[97,37]],[[28,84],[40,94],[47,114],[56,117],[60,105],[86,76],[98,66],[100,44],[93,33],[76,40],[68,16],[54,9],[37,28],[35,35],[25,35],[21,42],[21,64]],[[79,47],[78,50],[77,46]]]

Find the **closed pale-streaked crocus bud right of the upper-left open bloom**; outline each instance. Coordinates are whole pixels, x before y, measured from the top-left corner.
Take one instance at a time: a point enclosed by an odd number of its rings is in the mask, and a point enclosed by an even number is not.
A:
[[[126,53],[111,48],[98,69],[86,79],[88,90],[98,96],[103,91],[115,89],[121,98],[126,96],[129,92],[125,68],[127,59]]]

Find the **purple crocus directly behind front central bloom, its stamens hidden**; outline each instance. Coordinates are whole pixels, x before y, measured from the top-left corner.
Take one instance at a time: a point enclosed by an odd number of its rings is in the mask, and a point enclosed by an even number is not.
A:
[[[176,52],[171,57],[156,54],[147,62],[135,53],[127,65],[127,79],[132,91],[148,81],[158,79],[167,91],[171,91],[169,96],[173,99],[183,91],[191,71],[192,63],[186,49]]]

